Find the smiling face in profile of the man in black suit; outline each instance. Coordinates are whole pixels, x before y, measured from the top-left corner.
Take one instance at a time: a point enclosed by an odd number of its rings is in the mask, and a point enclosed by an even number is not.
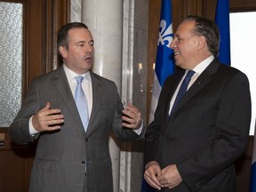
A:
[[[170,47],[174,52],[175,64],[180,68],[193,69],[203,60],[205,38],[196,36],[193,31],[195,21],[185,20],[177,28]]]

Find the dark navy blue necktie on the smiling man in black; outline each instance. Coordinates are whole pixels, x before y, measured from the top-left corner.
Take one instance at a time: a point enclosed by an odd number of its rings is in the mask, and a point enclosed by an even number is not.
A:
[[[173,103],[173,106],[172,106],[172,111],[174,108],[176,108],[177,104],[179,103],[179,101],[181,100],[181,98],[183,97],[183,95],[185,94],[185,92],[187,92],[187,89],[188,89],[188,84],[191,80],[191,77],[195,74],[195,71],[193,70],[189,70],[188,71],[188,74],[187,76],[185,76],[182,84],[180,85],[180,90],[177,94],[177,97]],[[172,114],[172,111],[171,111],[171,114]]]

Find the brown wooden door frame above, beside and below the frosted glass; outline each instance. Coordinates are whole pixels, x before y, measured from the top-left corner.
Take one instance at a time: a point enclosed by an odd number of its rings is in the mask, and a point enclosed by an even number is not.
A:
[[[31,80],[60,66],[57,32],[69,21],[70,0],[6,0],[23,4],[22,98]],[[12,142],[0,128],[0,191],[27,192],[36,144]]]

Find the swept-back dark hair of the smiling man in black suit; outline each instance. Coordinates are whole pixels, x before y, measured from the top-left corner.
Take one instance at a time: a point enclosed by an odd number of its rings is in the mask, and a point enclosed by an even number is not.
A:
[[[214,56],[219,55],[220,48],[220,30],[213,20],[204,17],[189,15],[185,20],[194,20],[196,26],[193,33],[196,36],[204,36],[208,49]]]

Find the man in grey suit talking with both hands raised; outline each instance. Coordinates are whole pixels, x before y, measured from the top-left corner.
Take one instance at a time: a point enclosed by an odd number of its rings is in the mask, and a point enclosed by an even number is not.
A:
[[[58,49],[64,64],[31,82],[10,127],[12,140],[19,144],[37,140],[30,192],[112,192],[109,132],[120,140],[143,136],[138,108],[123,108],[116,84],[90,71],[93,43],[83,23],[60,28]],[[85,127],[74,100],[76,76],[84,79],[89,114]]]

